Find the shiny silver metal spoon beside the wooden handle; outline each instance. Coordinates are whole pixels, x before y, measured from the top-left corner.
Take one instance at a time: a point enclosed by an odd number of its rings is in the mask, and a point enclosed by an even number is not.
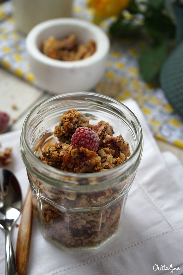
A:
[[[6,275],[18,275],[10,231],[21,212],[21,189],[13,173],[2,168],[0,187],[0,227],[5,231],[6,237]]]

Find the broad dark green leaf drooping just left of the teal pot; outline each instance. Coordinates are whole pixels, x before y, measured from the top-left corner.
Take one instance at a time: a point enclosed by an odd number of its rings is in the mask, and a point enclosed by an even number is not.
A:
[[[160,71],[166,58],[167,41],[161,44],[148,46],[140,55],[140,73],[146,82],[152,82]]]

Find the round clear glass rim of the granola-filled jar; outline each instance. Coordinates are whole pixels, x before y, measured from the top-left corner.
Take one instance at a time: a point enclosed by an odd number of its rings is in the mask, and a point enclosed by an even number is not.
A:
[[[116,103],[119,105],[119,107],[121,106],[123,109],[125,109],[128,113],[130,113],[130,115],[134,118],[134,120],[136,121],[136,123],[138,124],[138,141],[137,141],[137,146],[134,149],[134,152],[132,152],[131,156],[129,158],[127,158],[127,160],[125,160],[125,162],[123,162],[122,164],[115,166],[112,169],[106,170],[106,171],[102,171],[102,172],[96,172],[96,173],[74,173],[74,172],[67,172],[67,171],[63,171],[63,170],[59,170],[56,169],[52,166],[48,166],[47,164],[41,162],[41,160],[39,158],[37,158],[37,156],[35,156],[35,154],[32,152],[31,148],[29,147],[29,144],[27,142],[27,138],[26,138],[26,126],[27,123],[29,121],[29,118],[31,117],[32,113],[38,109],[41,105],[52,101],[54,99],[59,99],[62,98],[64,96],[76,96],[76,95],[91,95],[91,96],[98,96],[101,97],[101,99],[107,99],[109,101],[112,101],[113,103]],[[113,107],[115,107],[113,105]],[[121,111],[121,110],[120,110]],[[122,111],[121,111],[122,112]],[[122,175],[123,173],[126,173],[126,168],[129,167],[129,162],[132,162],[132,160],[135,158],[136,154],[138,152],[140,152],[143,148],[143,137],[142,137],[142,129],[140,126],[140,122],[138,121],[137,117],[134,115],[134,113],[123,103],[121,103],[120,101],[113,99],[111,97],[108,97],[106,95],[102,95],[102,94],[98,94],[98,93],[93,93],[93,92],[75,92],[75,93],[65,93],[65,94],[61,94],[61,95],[55,95],[53,97],[50,97],[48,99],[45,99],[44,101],[42,101],[41,103],[37,104],[31,111],[30,113],[27,115],[24,123],[23,123],[23,128],[22,128],[22,133],[21,133],[21,141],[23,142],[23,146],[25,146],[28,154],[33,158],[33,160],[35,161],[35,166],[36,164],[39,165],[43,170],[45,169],[45,166],[47,166],[47,170],[49,172],[51,172],[51,174],[55,174],[56,177],[53,178],[53,180],[55,181],[60,181],[61,178],[60,176],[65,176],[65,177],[69,177],[69,178],[100,178],[100,177],[106,177],[109,176],[110,174],[116,174],[116,175]],[[141,159],[140,159],[141,160]],[[140,163],[139,160],[139,163]]]

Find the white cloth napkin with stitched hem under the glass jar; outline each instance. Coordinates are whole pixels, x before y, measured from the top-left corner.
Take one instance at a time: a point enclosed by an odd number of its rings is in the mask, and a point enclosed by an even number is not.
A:
[[[27,275],[183,273],[182,165],[169,152],[164,154],[165,162],[136,102],[124,103],[141,123],[144,154],[128,195],[119,233],[98,250],[70,252],[45,240],[33,221]],[[13,148],[13,163],[7,168],[15,172],[25,199],[28,179],[19,152],[19,139],[20,131],[0,135],[2,146]],[[18,228],[14,227],[14,249],[17,233]],[[0,230],[0,275],[5,274],[4,239]],[[179,270],[166,270],[174,267]]]

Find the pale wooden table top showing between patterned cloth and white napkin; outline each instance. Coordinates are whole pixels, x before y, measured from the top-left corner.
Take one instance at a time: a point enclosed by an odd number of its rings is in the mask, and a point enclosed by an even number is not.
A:
[[[3,68],[0,68],[0,110],[7,112],[11,117],[9,131],[22,128],[25,117],[39,102],[51,95],[35,86],[17,78]],[[14,109],[13,105],[17,108]],[[183,149],[156,139],[162,152],[170,151],[183,164]]]

